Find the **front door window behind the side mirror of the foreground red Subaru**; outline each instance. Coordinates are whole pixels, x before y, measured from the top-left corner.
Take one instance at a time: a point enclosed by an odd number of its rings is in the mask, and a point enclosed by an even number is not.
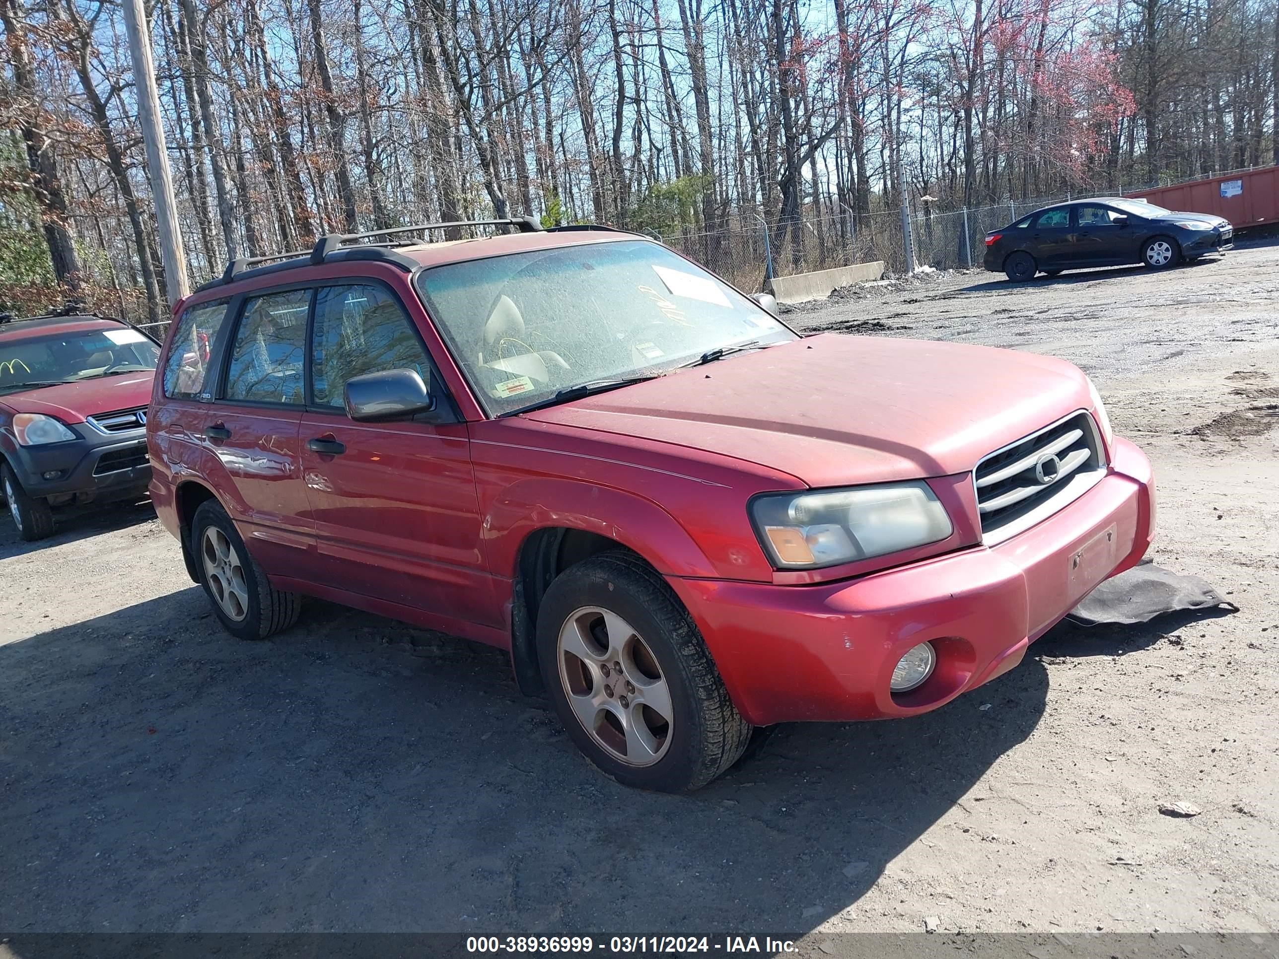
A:
[[[386,289],[325,286],[316,293],[311,347],[312,403],[341,407],[347,381],[386,370],[416,370],[431,384],[431,362],[417,330]]]

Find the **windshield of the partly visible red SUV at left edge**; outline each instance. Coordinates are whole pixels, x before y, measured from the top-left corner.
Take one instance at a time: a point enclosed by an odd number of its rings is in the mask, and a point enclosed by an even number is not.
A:
[[[155,370],[160,348],[137,330],[77,330],[0,340],[0,394]]]

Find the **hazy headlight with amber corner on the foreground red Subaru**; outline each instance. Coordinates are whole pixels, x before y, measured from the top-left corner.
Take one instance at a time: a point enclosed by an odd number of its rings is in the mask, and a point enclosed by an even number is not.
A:
[[[953,527],[922,480],[760,496],[760,542],[779,569],[817,569],[939,542]]]

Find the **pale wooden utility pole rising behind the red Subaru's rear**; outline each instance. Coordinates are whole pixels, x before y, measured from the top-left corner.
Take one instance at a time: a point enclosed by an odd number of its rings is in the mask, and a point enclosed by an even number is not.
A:
[[[147,148],[151,193],[159,221],[160,254],[164,260],[164,285],[169,307],[191,293],[187,284],[187,256],[182,249],[178,229],[178,201],[173,194],[169,152],[160,125],[160,95],[156,92],[156,68],[151,59],[151,31],[143,0],[123,0],[124,28],[129,35],[129,58],[133,60],[133,82],[138,97],[138,124]]]

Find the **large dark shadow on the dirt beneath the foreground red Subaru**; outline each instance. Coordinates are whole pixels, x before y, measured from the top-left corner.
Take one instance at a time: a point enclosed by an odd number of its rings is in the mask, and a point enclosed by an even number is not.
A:
[[[500,651],[325,604],[238,642],[188,588],[0,647],[0,926],[802,932],[1046,693],[1032,660],[927,716],[783,728],[666,797],[591,768]]]

